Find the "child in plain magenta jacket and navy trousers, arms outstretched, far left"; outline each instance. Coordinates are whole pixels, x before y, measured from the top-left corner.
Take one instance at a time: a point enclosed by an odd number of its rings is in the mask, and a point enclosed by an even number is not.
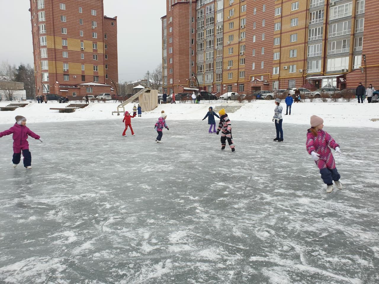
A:
[[[0,132],[0,137],[13,134],[13,167],[17,167],[17,165],[21,161],[21,151],[23,159],[24,167],[27,169],[31,169],[31,154],[29,151],[29,143],[28,143],[28,135],[33,137],[34,139],[39,139],[40,136],[35,134],[33,131],[31,131],[26,126],[26,118],[17,115],[16,116],[16,123],[9,128],[8,130],[5,130],[3,132]],[[41,142],[42,140],[39,139]]]

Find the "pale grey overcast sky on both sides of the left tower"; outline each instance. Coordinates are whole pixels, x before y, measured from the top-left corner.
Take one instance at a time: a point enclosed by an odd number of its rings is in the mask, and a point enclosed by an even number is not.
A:
[[[104,14],[117,16],[119,80],[138,80],[161,63],[164,0],[104,0]],[[29,0],[0,0],[0,63],[33,66]]]

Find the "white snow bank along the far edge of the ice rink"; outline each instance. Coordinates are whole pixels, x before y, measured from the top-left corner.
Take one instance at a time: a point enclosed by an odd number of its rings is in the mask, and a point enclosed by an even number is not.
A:
[[[0,106],[8,103],[1,102]],[[217,104],[166,104],[158,105],[158,108],[150,112],[144,112],[142,119],[159,117],[162,110],[168,114],[168,119],[172,120],[201,120],[208,111],[209,106],[232,105],[238,103],[217,103]],[[59,122],[59,121],[85,121],[98,119],[120,119],[120,116],[112,115],[112,111],[117,109],[119,103],[90,103],[84,109],[77,109],[73,113],[59,113],[50,108],[65,107],[67,104],[48,102],[47,104],[30,103],[25,108],[18,108],[15,111],[1,111],[0,123],[13,123],[16,115],[27,117],[29,123],[35,122]],[[283,106],[284,123],[296,123],[309,125],[309,118],[312,114],[321,116],[328,126],[353,126],[353,127],[373,127],[379,128],[379,104],[358,104],[357,101],[341,102],[302,102],[294,103],[292,115],[285,114],[285,104]],[[133,104],[126,106],[125,110],[132,112]],[[235,113],[229,113],[232,120],[245,120],[254,122],[271,122],[274,114],[273,101],[252,101],[245,103],[241,109]],[[206,121],[204,121],[206,123]]]

